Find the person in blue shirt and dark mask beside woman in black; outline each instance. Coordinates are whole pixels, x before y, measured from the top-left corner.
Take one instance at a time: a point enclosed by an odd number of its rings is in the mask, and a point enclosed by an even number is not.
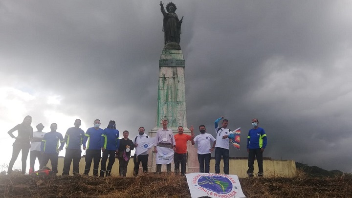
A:
[[[120,146],[120,133],[116,129],[116,123],[110,120],[108,128],[104,129],[104,134],[102,136],[101,149],[103,151],[103,158],[100,163],[100,176],[111,176],[112,165],[115,163],[115,154],[118,153]],[[106,162],[109,158],[108,167]]]

